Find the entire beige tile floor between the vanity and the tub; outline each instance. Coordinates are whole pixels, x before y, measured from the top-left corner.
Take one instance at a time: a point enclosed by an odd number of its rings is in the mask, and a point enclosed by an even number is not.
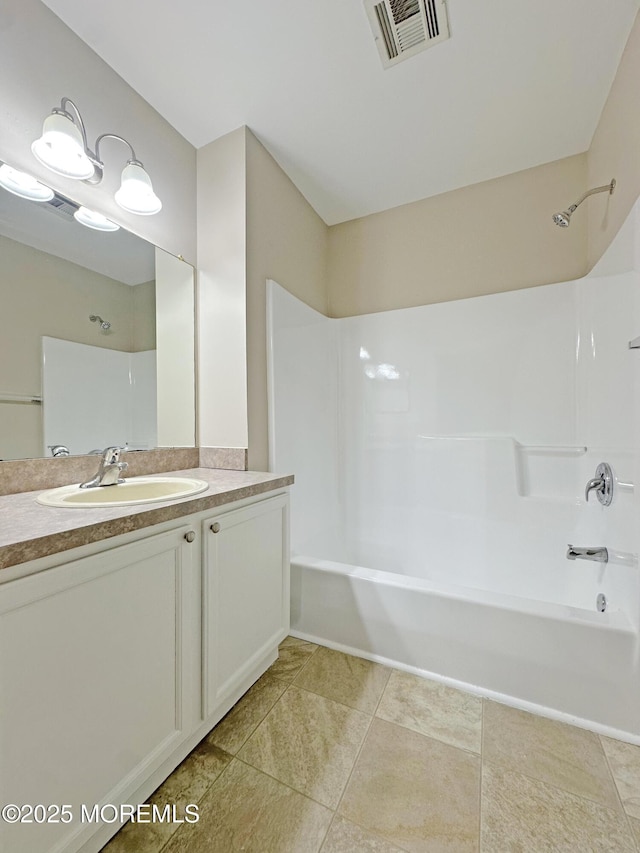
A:
[[[104,853],[640,851],[640,747],[288,638]]]

